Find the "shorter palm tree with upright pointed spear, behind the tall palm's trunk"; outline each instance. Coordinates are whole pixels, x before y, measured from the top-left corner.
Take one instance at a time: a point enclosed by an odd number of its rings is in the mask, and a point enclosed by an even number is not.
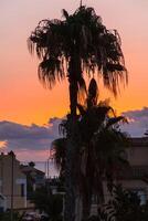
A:
[[[83,219],[89,217],[92,196],[97,197],[98,203],[104,202],[103,180],[107,181],[107,188],[112,192],[114,180],[127,161],[120,154],[127,146],[126,135],[118,129],[118,123],[125,120],[123,116],[115,116],[110,106],[105,102],[97,104],[97,84],[93,78],[88,87],[86,106],[77,105],[78,134],[76,155],[77,190],[83,200]],[[110,112],[114,117],[110,117]],[[63,126],[66,128],[66,122]],[[55,150],[55,164],[61,176],[65,171],[65,144],[66,138],[53,141]]]

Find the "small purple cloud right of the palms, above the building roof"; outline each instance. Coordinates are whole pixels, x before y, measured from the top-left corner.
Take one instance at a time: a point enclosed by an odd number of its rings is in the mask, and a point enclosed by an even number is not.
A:
[[[131,137],[142,137],[148,130],[148,107],[124,112],[124,116],[129,119],[129,124],[121,126]]]

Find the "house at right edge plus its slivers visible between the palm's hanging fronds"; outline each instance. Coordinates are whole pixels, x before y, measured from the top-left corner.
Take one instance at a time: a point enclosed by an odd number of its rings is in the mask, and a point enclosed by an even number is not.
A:
[[[129,147],[126,149],[125,159],[129,161],[124,172],[120,171],[116,185],[121,185],[123,188],[135,191],[138,193],[141,203],[148,200],[148,138],[130,138]],[[110,198],[110,194],[106,188],[106,181],[104,180],[104,194],[105,201]],[[97,214],[97,204],[94,199],[92,201],[92,214]],[[82,201],[77,198],[76,203],[76,220],[82,220]]]

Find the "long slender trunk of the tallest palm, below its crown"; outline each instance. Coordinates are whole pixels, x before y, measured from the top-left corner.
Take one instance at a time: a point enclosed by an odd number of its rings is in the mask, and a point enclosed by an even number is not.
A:
[[[72,56],[68,67],[70,82],[70,109],[71,115],[67,119],[67,144],[65,152],[65,212],[64,221],[75,220],[75,203],[76,203],[76,151],[77,151],[77,120],[76,120],[76,105],[77,105],[77,75],[81,74],[81,65],[77,65],[77,56]]]

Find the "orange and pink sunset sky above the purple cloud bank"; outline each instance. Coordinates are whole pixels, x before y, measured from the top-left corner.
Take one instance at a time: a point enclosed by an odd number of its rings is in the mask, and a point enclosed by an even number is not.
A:
[[[117,99],[103,88],[101,98],[110,97],[112,105],[117,112],[124,112],[131,118],[135,114],[139,114],[142,118],[144,112],[148,125],[148,1],[83,0],[83,3],[94,7],[108,29],[118,30],[129,73],[128,86],[121,91]],[[57,84],[52,91],[43,88],[36,74],[39,61],[29,54],[27,39],[40,20],[62,19],[63,8],[73,12],[78,4],[80,0],[0,1],[0,144],[2,147],[3,144],[10,145],[9,136],[3,133],[8,133],[9,126],[12,128],[20,126],[23,129],[25,127],[27,130],[34,127],[51,129],[53,124],[49,124],[50,118],[57,117],[53,122],[59,122],[59,117],[63,117],[68,110],[66,82]],[[136,120],[139,126],[141,122],[139,118]],[[142,127],[147,128],[147,125]],[[139,134],[137,128],[136,136],[141,135],[141,131]],[[57,131],[55,134],[57,135]],[[25,145],[23,150],[27,149]]]

